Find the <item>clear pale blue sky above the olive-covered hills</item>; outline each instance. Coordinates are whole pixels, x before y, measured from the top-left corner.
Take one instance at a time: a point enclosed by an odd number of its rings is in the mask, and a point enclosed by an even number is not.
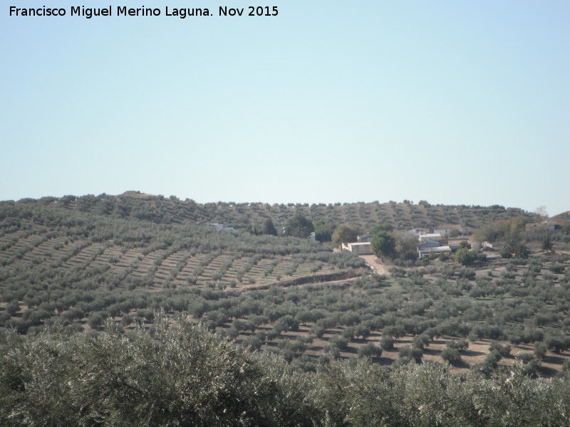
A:
[[[0,0],[0,200],[570,209],[567,0],[43,1]]]

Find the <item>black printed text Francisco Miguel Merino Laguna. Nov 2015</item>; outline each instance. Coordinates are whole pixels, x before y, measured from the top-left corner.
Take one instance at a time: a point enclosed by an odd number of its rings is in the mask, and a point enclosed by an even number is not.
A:
[[[56,7],[20,8],[10,6],[10,16],[66,16],[68,10]],[[86,19],[93,16],[160,16],[162,10],[159,8],[139,7],[128,8],[127,6],[116,6],[113,14],[113,6],[92,8],[85,6],[71,6],[70,16],[83,16]],[[219,16],[277,16],[277,6],[248,6],[247,8],[229,8],[219,6]],[[213,16],[213,11],[207,8],[175,8],[165,6],[165,16],[177,16],[185,19],[187,16]]]

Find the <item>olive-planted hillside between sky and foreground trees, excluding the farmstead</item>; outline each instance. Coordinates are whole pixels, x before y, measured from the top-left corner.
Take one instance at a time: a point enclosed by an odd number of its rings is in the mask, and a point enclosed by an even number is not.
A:
[[[421,268],[391,266],[386,277],[330,244],[246,229],[266,218],[284,224],[297,212],[363,229],[385,218],[403,229],[534,220],[499,206],[200,205],[137,192],[6,201],[0,326],[33,334],[61,323],[68,332],[91,332],[110,319],[132,332],[152,328],[156,310],[165,310],[307,370],[365,355],[383,365],[447,360],[454,371],[487,374],[519,358],[533,375],[565,369],[570,262],[563,241],[547,255],[532,243],[529,260],[470,268],[427,260]],[[209,222],[238,231],[217,232]]]

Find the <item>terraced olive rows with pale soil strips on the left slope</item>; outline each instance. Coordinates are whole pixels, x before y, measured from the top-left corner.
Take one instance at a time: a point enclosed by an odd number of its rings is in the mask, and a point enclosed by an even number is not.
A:
[[[105,273],[100,286],[130,288],[137,284],[159,290],[180,286],[199,288],[247,288],[269,285],[280,280],[330,273],[340,268],[321,261],[305,261],[299,255],[246,255],[222,250],[210,253],[170,249],[145,253],[141,248],[127,248],[112,242],[93,243],[88,238],[70,240],[46,238],[46,233],[7,233],[0,237],[2,283],[25,269],[38,278],[48,268],[53,270]],[[125,280],[130,278],[130,280]]]

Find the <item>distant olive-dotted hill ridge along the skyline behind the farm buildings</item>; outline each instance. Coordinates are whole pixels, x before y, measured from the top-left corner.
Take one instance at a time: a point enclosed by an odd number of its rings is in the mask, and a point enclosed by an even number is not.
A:
[[[18,202],[4,201],[1,206],[48,206],[51,209],[66,209],[93,213],[114,218],[137,218],[154,223],[204,224],[223,223],[225,226],[244,228],[261,224],[267,218],[283,225],[300,212],[311,221],[323,220],[336,224],[351,224],[368,231],[379,223],[390,223],[394,228],[433,228],[442,225],[461,225],[467,231],[499,220],[524,216],[529,222],[537,216],[517,208],[504,206],[447,206],[432,205],[426,201],[336,204],[266,204],[217,202],[198,204],[193,200],[180,200],[175,196],[152,196],[140,191],[125,191],[118,196],[63,196],[61,198],[22,199]],[[35,208],[34,208],[35,209]]]

